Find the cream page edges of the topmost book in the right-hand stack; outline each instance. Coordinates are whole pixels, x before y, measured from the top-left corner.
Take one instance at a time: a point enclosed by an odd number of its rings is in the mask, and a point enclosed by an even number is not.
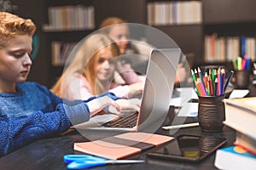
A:
[[[256,114],[234,105],[225,105],[225,116],[225,125],[256,139]]]

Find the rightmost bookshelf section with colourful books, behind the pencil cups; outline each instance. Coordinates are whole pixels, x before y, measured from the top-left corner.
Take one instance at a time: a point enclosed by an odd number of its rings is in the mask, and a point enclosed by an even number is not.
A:
[[[253,0],[203,1],[205,62],[230,63],[244,54],[256,60],[255,4]]]

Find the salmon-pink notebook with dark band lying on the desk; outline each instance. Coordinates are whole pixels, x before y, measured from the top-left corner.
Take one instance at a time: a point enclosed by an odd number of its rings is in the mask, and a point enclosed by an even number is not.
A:
[[[170,136],[151,133],[122,133],[106,139],[74,143],[73,148],[93,156],[118,160],[141,153],[143,150],[164,144],[172,139],[173,137]]]

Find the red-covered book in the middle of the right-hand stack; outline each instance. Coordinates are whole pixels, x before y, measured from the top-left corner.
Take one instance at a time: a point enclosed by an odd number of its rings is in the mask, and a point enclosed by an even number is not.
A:
[[[236,132],[236,141],[234,144],[256,156],[256,139],[253,139],[243,133]]]

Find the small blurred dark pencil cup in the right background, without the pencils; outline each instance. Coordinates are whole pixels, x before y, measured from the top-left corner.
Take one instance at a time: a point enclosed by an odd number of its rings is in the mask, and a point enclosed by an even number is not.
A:
[[[250,70],[235,71],[236,88],[247,89],[250,84]]]

